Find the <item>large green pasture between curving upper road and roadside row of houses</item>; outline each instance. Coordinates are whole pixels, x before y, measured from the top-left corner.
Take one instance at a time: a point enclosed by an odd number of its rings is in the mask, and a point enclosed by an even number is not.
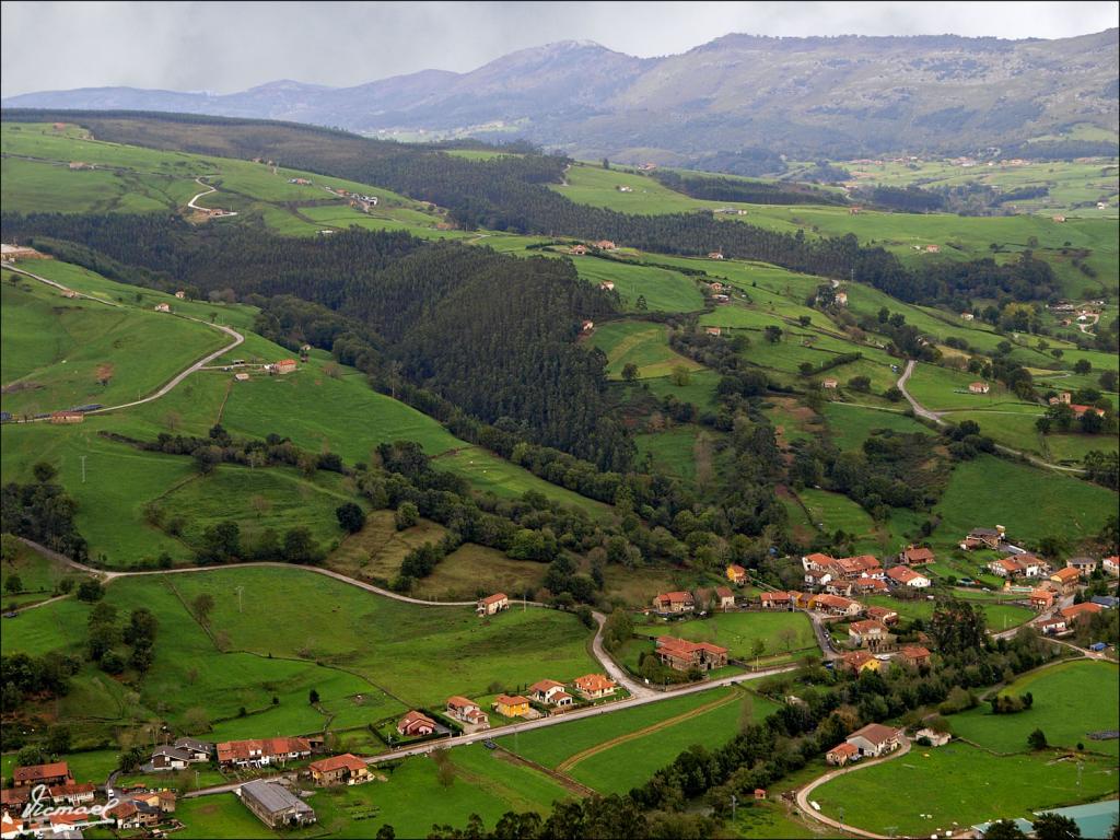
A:
[[[203,592],[215,600],[205,625],[187,606]],[[298,568],[125,578],[106,598],[122,615],[148,607],[160,629],[141,681],[121,685],[87,665],[50,704],[62,717],[92,720],[81,729],[90,738],[152,715],[185,727],[193,709],[204,710],[218,739],[347,729],[456,693],[598,670],[588,631],[572,615],[513,610],[480,622],[470,607],[401,604]],[[292,604],[315,618],[276,622]],[[88,612],[73,600],[30,610],[6,624],[3,653],[78,652]],[[318,707],[307,702],[311,689]]]

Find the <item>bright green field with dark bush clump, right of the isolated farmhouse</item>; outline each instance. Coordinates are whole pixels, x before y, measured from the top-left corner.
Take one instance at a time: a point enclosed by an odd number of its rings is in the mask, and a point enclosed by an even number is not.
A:
[[[1036,728],[1055,746],[1079,743],[1095,753],[1116,756],[1117,740],[1092,740],[1089,732],[1120,729],[1117,666],[1105,662],[1064,662],[1020,676],[1001,694],[1030,692],[1034,704],[1015,715],[992,715],[988,704],[952,717],[953,734],[998,753],[1026,753],[1027,736]]]

